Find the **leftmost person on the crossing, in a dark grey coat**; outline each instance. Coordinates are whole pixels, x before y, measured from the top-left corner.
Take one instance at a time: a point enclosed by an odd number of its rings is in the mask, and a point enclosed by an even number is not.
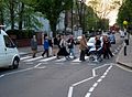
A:
[[[31,50],[32,50],[32,53],[33,53],[33,57],[35,57],[36,55],[36,52],[37,52],[37,41],[36,41],[36,36],[33,35],[33,37],[31,39]]]

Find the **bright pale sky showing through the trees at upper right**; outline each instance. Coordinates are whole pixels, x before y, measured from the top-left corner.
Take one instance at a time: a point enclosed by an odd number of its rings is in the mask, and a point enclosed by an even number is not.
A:
[[[89,1],[92,0],[86,0],[86,3],[88,4]],[[113,0],[99,0],[99,2],[101,3],[99,7],[97,7],[98,10],[106,10],[109,9],[109,6],[111,6],[111,2]],[[121,1],[121,0],[120,0]],[[108,15],[105,15],[105,18],[108,18],[110,20],[109,25],[113,25],[116,23],[117,20],[117,15],[118,15],[118,9],[119,7],[117,7],[114,10],[110,11],[110,13]]]

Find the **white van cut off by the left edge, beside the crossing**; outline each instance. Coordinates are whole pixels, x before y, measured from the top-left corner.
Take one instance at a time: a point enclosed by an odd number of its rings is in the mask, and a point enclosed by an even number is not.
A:
[[[8,36],[8,34],[0,29],[0,67],[11,66],[18,68],[20,55],[16,46]]]

